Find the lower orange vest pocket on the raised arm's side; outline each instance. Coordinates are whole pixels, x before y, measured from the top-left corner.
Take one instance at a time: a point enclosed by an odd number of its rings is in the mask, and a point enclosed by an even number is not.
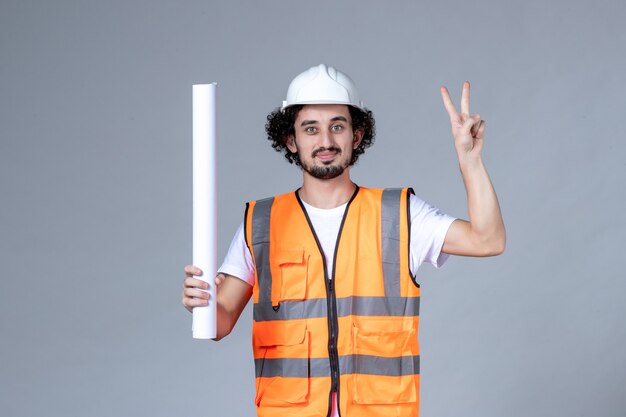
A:
[[[371,327],[353,326],[354,384],[357,404],[399,404],[417,401],[413,329],[397,329],[388,322]],[[379,328],[377,328],[379,327]],[[391,329],[391,330],[390,330]]]

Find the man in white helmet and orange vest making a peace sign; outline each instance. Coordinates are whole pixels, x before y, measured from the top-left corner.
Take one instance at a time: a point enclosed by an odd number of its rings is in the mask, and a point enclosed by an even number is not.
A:
[[[469,221],[411,189],[367,189],[350,166],[374,139],[352,80],[319,65],[290,84],[268,116],[272,146],[302,168],[296,192],[248,203],[216,280],[217,339],[252,296],[259,416],[417,416],[422,262],[502,253],[505,230],[482,163],[485,123],[442,87],[468,195]],[[183,305],[206,305],[185,267]]]

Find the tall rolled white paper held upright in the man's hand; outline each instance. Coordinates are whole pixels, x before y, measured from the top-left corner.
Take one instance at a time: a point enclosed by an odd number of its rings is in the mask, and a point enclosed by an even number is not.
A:
[[[209,283],[209,304],[194,307],[194,339],[217,335],[215,273],[217,271],[217,84],[193,86],[193,264]]]

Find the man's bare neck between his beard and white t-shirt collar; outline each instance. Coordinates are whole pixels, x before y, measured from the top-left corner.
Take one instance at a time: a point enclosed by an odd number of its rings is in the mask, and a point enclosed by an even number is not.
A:
[[[304,172],[304,183],[298,190],[298,195],[313,207],[331,209],[347,203],[355,188],[356,185],[350,179],[349,169],[330,180],[315,178]]]

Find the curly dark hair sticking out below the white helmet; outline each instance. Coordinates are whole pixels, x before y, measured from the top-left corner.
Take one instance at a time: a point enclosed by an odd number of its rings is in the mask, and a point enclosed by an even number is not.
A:
[[[281,110],[280,107],[267,115],[267,123],[265,124],[265,132],[267,139],[272,142],[272,148],[276,152],[285,152],[285,158],[290,164],[301,166],[300,157],[297,153],[293,153],[287,148],[287,139],[289,136],[295,136],[294,123],[298,117],[298,113],[302,110],[302,105],[295,105]],[[363,139],[359,147],[352,152],[350,165],[354,165],[359,156],[365,152],[365,149],[372,146],[374,137],[376,136],[376,124],[374,115],[368,109],[358,109],[348,106],[350,117],[352,118],[352,130],[363,130]]]

